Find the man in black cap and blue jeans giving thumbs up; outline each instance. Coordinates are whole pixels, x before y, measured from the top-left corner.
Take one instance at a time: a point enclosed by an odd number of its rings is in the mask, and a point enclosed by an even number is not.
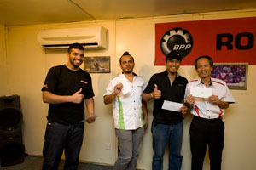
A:
[[[151,127],[154,150],[153,170],[163,169],[163,156],[167,144],[169,146],[168,169],[179,170],[182,165],[183,156],[180,154],[183,137],[182,114],[187,113],[188,108],[183,105],[179,111],[162,109],[165,101],[166,103],[170,101],[183,103],[188,80],[177,73],[181,60],[177,52],[168,54],[166,71],[154,74],[143,93],[143,100],[154,99],[154,119]]]

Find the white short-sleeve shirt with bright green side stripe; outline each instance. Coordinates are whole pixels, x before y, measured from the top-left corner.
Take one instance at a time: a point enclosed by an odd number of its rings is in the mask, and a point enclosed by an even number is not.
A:
[[[114,86],[119,83],[118,77],[114,77],[106,88],[105,95],[113,93]],[[142,77],[135,75],[133,81],[130,82],[127,78],[131,91],[128,94],[119,93],[114,99],[113,103],[113,119],[114,127],[117,129],[135,130],[139,127],[143,127],[145,122],[143,118],[142,110],[142,98],[143,90],[146,88],[146,84]]]

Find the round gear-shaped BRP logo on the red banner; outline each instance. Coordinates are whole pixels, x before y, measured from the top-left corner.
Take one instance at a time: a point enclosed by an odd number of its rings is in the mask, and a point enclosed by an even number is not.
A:
[[[165,55],[172,51],[177,51],[184,58],[190,53],[193,47],[193,38],[189,31],[183,28],[172,28],[166,31],[161,38],[160,47],[162,53]]]

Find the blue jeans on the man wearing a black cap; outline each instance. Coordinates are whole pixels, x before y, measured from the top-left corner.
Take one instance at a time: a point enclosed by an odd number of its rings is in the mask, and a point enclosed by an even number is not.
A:
[[[169,146],[169,170],[179,170],[182,165],[183,156],[180,151],[183,140],[183,123],[173,125],[168,124],[152,124],[153,136],[153,170],[163,169],[163,156],[165,154],[166,145]]]

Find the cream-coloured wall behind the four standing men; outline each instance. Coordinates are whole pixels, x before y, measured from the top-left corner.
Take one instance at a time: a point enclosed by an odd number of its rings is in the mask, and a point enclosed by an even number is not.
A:
[[[53,52],[49,50],[44,51],[40,48],[38,44],[39,30],[82,26],[104,26],[108,29],[108,49],[100,51],[87,50],[85,52],[87,56],[111,56],[111,73],[91,74],[93,88],[96,94],[96,116],[99,116],[99,118],[96,119],[94,124],[86,124],[84,145],[81,150],[80,160],[113,165],[117,156],[117,141],[113,130],[112,105],[104,105],[102,95],[105,92],[109,80],[120,73],[119,56],[124,51],[129,51],[135,57],[135,72],[148,82],[149,78],[155,72],[165,70],[164,66],[154,66],[155,23],[247,16],[256,16],[256,10],[253,12],[239,11],[203,15],[188,14],[137,20],[110,20],[9,27],[7,32],[8,54],[6,61],[9,63],[9,92],[20,95],[24,114],[23,136],[26,153],[30,155],[42,155],[48,105],[43,104],[40,90],[49,68],[53,65],[61,65],[67,62],[65,50]],[[81,67],[84,68],[84,65]],[[253,121],[256,119],[256,115],[253,112],[255,109],[253,94],[256,91],[255,86],[253,86],[253,79],[256,77],[255,70],[256,66],[249,66],[247,90],[231,91],[236,99],[236,104],[230,105],[230,108],[224,115],[226,129],[223,169],[240,170],[244,168],[253,170],[256,167],[256,162],[253,160],[256,153],[254,144],[256,140],[256,134],[254,133],[256,126],[253,126]],[[197,77],[193,66],[182,66],[179,73],[189,80]],[[151,123],[153,119],[152,101],[148,102],[148,111],[150,115],[149,122]],[[191,115],[187,115],[183,122],[183,170],[190,169],[189,123],[191,118]],[[151,169],[153,154],[150,127],[148,127],[145,133],[143,150],[137,164],[138,168],[148,170]],[[107,143],[111,144],[111,150],[105,150]],[[206,159],[204,166],[208,167],[208,165],[209,162]],[[164,169],[166,168],[167,155],[165,156],[164,162]]]

